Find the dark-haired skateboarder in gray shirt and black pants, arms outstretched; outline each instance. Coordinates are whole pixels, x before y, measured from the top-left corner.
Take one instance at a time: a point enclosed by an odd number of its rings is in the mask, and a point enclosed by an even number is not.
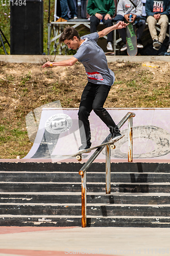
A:
[[[97,41],[115,29],[125,28],[128,24],[119,22],[114,26],[103,29],[100,32],[94,32],[84,35],[80,38],[78,31],[72,27],[66,27],[59,37],[59,42],[64,42],[68,48],[77,50],[77,53],[68,60],[58,62],[47,61],[45,67],[67,67],[75,65],[80,61],[85,67],[87,74],[87,85],[83,91],[79,107],[79,127],[82,145],[79,150],[85,150],[91,146],[91,133],[88,117],[93,110],[101,120],[108,126],[112,138],[122,136],[110,114],[103,108],[110,88],[114,82],[114,73],[108,68],[107,59],[104,51],[98,46]],[[82,128],[82,124],[84,129]],[[85,131],[85,132],[82,132]]]

